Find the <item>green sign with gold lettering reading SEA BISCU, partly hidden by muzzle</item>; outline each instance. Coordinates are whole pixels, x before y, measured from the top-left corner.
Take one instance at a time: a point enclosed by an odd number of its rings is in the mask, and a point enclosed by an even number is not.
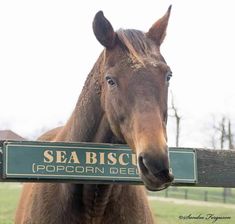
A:
[[[7,141],[2,151],[3,179],[142,183],[136,155],[125,145]],[[193,149],[170,149],[169,156],[175,182],[197,181]]]

